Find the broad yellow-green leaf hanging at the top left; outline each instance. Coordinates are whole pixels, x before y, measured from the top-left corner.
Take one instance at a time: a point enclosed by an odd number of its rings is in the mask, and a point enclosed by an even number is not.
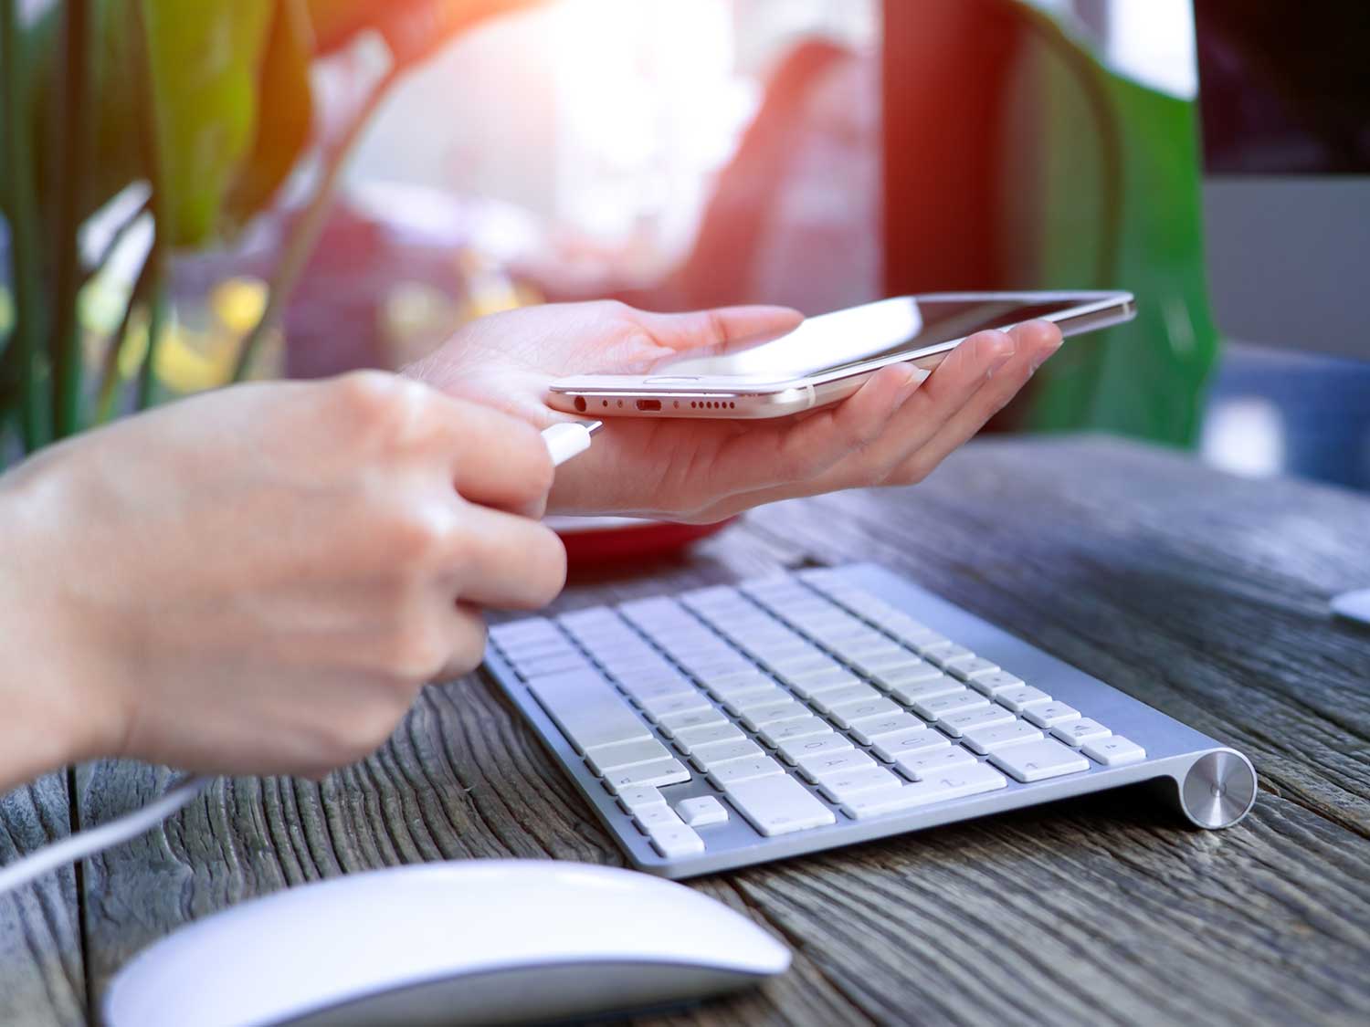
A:
[[[271,0],[142,0],[158,218],[171,246],[214,240],[252,152]]]

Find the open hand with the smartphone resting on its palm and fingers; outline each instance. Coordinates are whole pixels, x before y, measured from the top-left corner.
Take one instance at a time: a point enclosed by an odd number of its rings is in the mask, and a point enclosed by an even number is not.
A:
[[[566,415],[552,378],[641,374],[674,353],[785,331],[774,307],[645,314],[581,303],[473,322],[406,372],[451,396],[495,404],[540,427]],[[710,523],[773,500],[867,485],[911,485],[974,435],[1060,345],[1047,322],[966,340],[932,377],[882,368],[833,407],[777,420],[610,418],[595,446],[556,475],[551,508]]]

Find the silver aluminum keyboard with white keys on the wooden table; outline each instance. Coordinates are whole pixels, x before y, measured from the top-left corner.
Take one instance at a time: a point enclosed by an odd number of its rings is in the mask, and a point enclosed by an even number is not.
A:
[[[1182,772],[1204,735],[874,567],[490,630],[640,868],[688,876]]]

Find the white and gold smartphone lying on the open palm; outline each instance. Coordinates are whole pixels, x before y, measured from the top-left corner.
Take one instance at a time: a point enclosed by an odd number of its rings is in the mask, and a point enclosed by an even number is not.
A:
[[[637,375],[559,378],[547,401],[596,418],[782,418],[851,396],[886,364],[932,370],[984,329],[1043,319],[1078,335],[1136,314],[1123,292],[900,296],[810,318],[778,337],[690,351]]]

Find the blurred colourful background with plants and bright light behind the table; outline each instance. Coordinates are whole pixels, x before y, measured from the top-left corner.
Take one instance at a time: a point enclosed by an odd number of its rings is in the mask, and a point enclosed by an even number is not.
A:
[[[1370,489],[1363,0],[5,4],[8,459],[521,304],[1126,288],[995,430]]]

